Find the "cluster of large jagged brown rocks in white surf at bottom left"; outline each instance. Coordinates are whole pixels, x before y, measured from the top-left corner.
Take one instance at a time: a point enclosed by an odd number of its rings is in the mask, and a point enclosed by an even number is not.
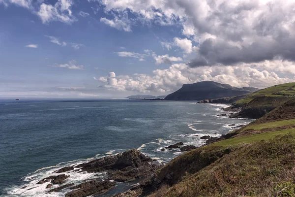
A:
[[[183,145],[182,142],[177,145]],[[59,192],[64,189],[73,190],[65,195],[65,197],[87,197],[90,195],[100,195],[112,189],[116,185],[116,181],[134,181],[137,178],[145,178],[152,176],[162,165],[142,154],[137,149],[131,149],[114,156],[107,156],[97,160],[76,166],[62,167],[54,173],[63,173],[70,170],[76,172],[101,172],[106,171],[107,177],[105,181],[98,179],[91,180],[79,185],[73,186],[73,183],[64,184],[69,175],[59,174],[49,176],[40,180],[37,184],[49,183],[46,189],[48,193]],[[75,169],[79,168],[79,169]],[[55,185],[60,185],[54,188]],[[71,187],[72,186],[72,187]],[[33,188],[30,188],[33,189]],[[127,194],[127,193],[126,193]],[[131,194],[131,193],[130,193]]]

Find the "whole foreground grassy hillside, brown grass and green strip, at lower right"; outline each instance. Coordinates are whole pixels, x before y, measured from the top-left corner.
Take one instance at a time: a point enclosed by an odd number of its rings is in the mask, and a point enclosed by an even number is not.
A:
[[[295,99],[234,133],[159,170],[177,179],[151,197],[295,197]],[[200,168],[200,153],[202,160],[219,155]]]

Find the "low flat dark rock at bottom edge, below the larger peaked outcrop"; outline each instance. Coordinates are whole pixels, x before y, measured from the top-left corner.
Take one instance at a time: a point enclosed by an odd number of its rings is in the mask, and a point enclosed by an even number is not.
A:
[[[97,181],[92,180],[86,183],[81,183],[70,189],[77,189],[75,191],[65,194],[65,197],[87,197],[90,195],[103,194],[113,187],[115,187],[116,181]]]

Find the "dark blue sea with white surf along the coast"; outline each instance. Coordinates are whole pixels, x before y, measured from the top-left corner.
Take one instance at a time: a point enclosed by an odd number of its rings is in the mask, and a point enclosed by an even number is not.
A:
[[[200,146],[229,125],[251,120],[217,117],[220,104],[149,100],[0,100],[0,197],[62,197],[36,183],[68,165],[137,148],[160,163],[182,154],[161,148],[182,141]],[[97,178],[68,172],[68,183]],[[99,177],[103,179],[104,173]],[[103,195],[112,196],[132,183]],[[25,189],[22,187],[27,186]]]

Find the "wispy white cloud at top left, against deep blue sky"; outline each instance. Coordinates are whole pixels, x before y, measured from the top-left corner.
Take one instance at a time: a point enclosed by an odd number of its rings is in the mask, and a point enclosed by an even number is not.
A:
[[[42,3],[36,14],[42,20],[42,23],[51,21],[60,21],[71,24],[77,19],[72,15],[72,0],[58,0],[55,5]]]

